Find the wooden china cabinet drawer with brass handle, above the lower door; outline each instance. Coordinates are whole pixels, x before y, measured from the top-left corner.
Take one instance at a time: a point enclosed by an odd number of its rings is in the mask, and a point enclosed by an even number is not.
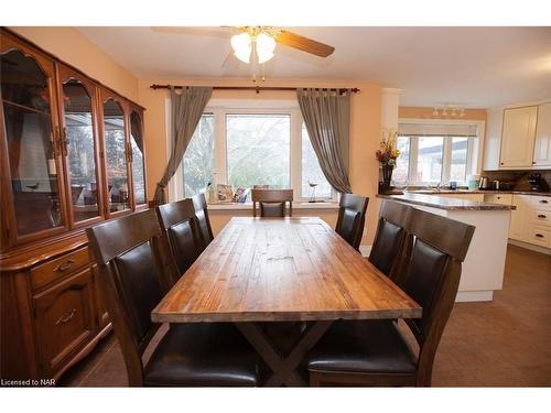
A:
[[[31,270],[31,283],[33,290],[39,290],[66,274],[88,265],[90,258],[88,247],[80,248],[65,256],[40,264]]]

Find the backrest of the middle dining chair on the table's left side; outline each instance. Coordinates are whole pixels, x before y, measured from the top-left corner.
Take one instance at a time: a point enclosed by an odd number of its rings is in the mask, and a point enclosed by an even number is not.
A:
[[[156,215],[166,233],[169,246],[182,275],[195,262],[202,251],[202,241],[192,199],[183,199],[156,207]],[[173,280],[174,283],[177,280]]]

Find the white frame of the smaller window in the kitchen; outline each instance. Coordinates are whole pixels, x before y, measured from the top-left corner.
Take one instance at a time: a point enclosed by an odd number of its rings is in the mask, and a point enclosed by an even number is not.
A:
[[[421,123],[421,124],[469,124],[476,126],[476,137],[467,139],[467,164],[465,169],[465,181],[457,184],[467,184],[467,176],[471,174],[479,174],[482,171],[482,148],[484,145],[485,121],[475,120],[449,120],[449,119],[411,119],[400,118],[398,123]],[[403,135],[408,137],[408,135]],[[408,137],[410,139],[410,159],[408,163],[408,182],[407,185],[425,186],[433,185],[432,182],[411,181],[410,177],[415,176],[419,156],[419,137]],[[446,185],[450,183],[451,160],[452,160],[452,139],[462,138],[460,135],[443,137],[444,145],[442,150],[442,174],[440,183]],[[396,183],[393,183],[396,184]]]

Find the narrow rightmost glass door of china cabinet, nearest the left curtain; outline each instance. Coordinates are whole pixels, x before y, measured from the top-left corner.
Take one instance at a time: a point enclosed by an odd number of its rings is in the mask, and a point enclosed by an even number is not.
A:
[[[130,113],[130,145],[132,149],[132,185],[136,205],[145,204],[145,174],[143,159],[143,122],[141,111]]]

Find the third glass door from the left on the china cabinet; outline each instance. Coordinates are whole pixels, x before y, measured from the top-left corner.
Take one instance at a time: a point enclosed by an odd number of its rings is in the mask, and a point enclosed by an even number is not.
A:
[[[125,110],[108,98],[102,104],[104,145],[109,213],[130,209]]]

